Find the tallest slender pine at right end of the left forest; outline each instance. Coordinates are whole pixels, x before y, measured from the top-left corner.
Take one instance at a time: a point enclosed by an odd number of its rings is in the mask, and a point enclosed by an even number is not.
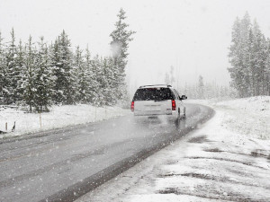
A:
[[[112,31],[112,33],[110,34],[110,36],[112,37],[112,41],[110,44],[112,47],[114,66],[117,66],[117,73],[115,73],[114,75],[118,75],[115,78],[117,80],[117,92],[115,92],[115,95],[117,99],[124,100],[124,97],[127,95],[127,86],[125,83],[125,67],[128,63],[128,48],[129,42],[133,40],[133,38],[131,38],[131,35],[134,34],[135,31],[127,30],[129,24],[124,22],[126,16],[122,8],[117,14],[117,17],[118,21],[115,23],[115,30]]]

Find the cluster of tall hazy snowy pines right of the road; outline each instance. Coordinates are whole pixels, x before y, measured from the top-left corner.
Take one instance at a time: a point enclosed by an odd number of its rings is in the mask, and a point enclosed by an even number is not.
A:
[[[239,97],[270,95],[270,39],[248,13],[234,22],[229,62],[231,85]]]

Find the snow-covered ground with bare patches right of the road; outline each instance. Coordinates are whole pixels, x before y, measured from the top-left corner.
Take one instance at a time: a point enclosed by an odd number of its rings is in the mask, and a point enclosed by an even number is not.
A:
[[[270,201],[270,97],[199,103],[213,119],[77,201]]]

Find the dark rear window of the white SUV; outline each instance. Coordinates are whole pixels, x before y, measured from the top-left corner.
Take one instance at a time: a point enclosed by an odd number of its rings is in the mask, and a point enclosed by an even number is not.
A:
[[[133,97],[133,101],[165,101],[173,99],[173,94],[169,88],[141,88],[135,92]]]

